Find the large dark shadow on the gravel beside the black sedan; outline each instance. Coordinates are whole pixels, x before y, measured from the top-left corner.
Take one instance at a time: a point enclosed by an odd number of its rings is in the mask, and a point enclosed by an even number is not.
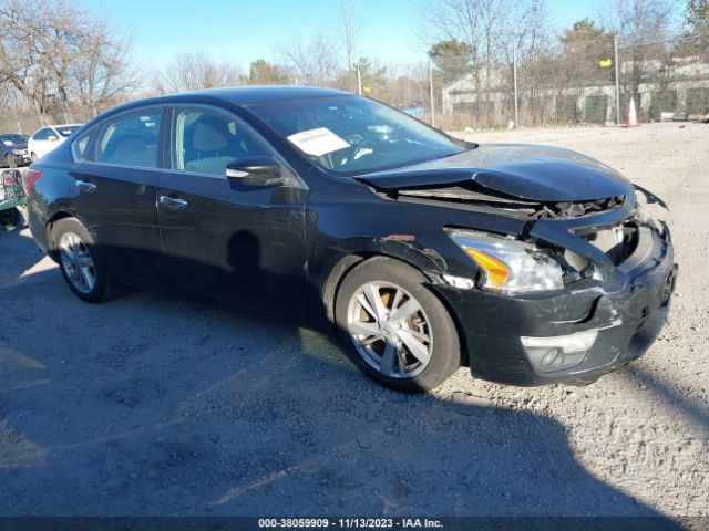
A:
[[[38,261],[19,233],[0,244],[0,270]],[[603,516],[674,529],[585,470],[559,423],[387,391],[322,332],[164,293],[90,305],[56,269],[0,290],[0,308],[32,314],[0,327],[0,516]]]

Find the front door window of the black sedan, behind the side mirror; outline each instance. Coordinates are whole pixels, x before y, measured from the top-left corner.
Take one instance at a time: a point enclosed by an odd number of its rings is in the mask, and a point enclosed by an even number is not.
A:
[[[267,155],[230,116],[212,110],[175,110],[172,167],[199,174],[225,175],[228,164]]]

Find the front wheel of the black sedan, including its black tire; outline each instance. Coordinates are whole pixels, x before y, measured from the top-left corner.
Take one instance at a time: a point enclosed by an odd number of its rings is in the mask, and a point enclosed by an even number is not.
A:
[[[405,393],[438,387],[461,366],[453,320],[424,282],[414,268],[376,257],[356,266],[336,296],[336,323],[352,362],[376,382]]]

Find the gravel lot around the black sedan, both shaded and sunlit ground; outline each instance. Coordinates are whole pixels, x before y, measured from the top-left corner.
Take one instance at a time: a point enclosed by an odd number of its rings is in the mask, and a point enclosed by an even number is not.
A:
[[[709,126],[472,138],[579,149],[669,202],[678,291],[645,357],[588,387],[462,369],[402,396],[270,316],[84,304],[1,233],[0,514],[708,514]]]

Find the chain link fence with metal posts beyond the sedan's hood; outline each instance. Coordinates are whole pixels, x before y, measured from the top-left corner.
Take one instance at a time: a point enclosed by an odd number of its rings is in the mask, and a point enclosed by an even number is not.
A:
[[[640,122],[699,119],[709,115],[709,41],[627,45],[604,35],[477,64],[440,93],[432,101],[446,129],[624,124],[631,100]]]

